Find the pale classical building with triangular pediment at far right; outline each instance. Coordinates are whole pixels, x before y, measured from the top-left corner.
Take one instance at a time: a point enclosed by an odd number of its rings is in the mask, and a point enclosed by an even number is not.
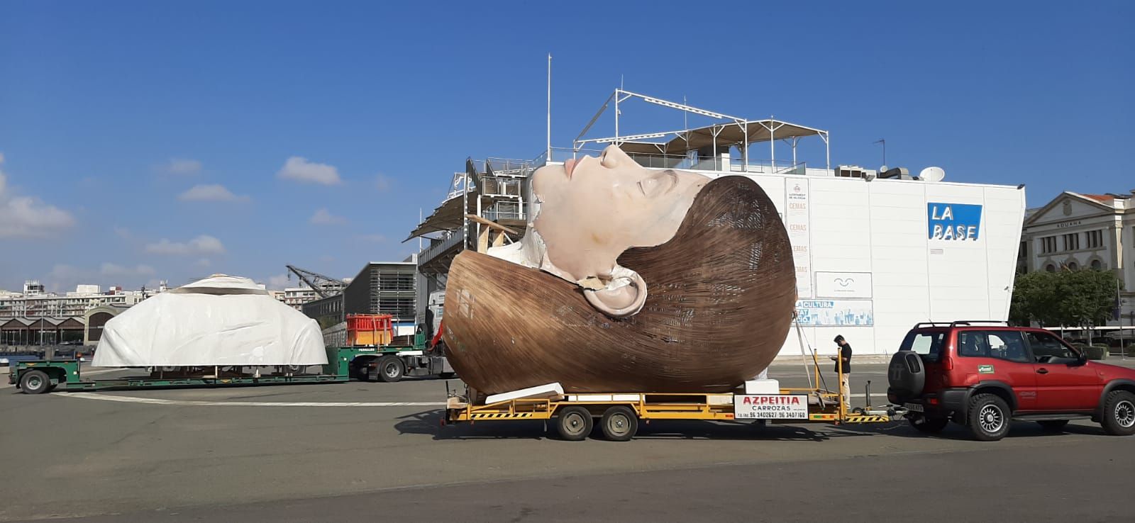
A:
[[[1135,324],[1135,191],[1132,194],[1065,192],[1029,211],[1018,268],[1116,271],[1124,324]],[[1115,326],[1111,321],[1109,324]]]

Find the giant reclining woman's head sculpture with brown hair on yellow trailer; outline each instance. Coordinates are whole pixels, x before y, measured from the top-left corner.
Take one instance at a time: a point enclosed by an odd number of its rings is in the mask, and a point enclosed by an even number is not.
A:
[[[755,182],[646,169],[609,146],[532,176],[521,242],[464,252],[445,337],[486,393],[728,390],[788,334],[788,235]]]

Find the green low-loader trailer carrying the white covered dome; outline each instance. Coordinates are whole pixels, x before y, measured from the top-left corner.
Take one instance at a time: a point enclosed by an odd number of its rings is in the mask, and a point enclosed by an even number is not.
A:
[[[84,380],[78,360],[39,360],[12,362],[8,382],[19,387],[24,394],[44,394],[59,390],[103,390],[133,388],[176,387],[233,387],[253,385],[334,383],[348,381],[352,370],[361,362],[370,362],[382,356],[386,347],[328,347],[327,364],[319,373],[306,373],[306,368],[276,368],[269,373],[226,372],[225,368],[212,368],[211,372],[188,374],[185,369],[153,369],[146,376]],[[201,369],[201,368],[197,368]],[[124,369],[127,370],[127,369]]]

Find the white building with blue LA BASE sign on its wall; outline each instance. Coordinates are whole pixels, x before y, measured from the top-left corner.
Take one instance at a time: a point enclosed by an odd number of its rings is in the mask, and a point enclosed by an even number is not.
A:
[[[856,354],[893,353],[918,322],[1008,319],[1023,187],[821,169],[743,176],[789,230],[798,321],[817,351],[834,353],[832,339],[843,335]],[[793,329],[781,355],[799,354]]]

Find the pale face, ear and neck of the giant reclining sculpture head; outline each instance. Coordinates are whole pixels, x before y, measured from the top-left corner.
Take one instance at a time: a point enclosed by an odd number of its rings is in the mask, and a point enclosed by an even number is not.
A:
[[[588,303],[613,318],[637,313],[646,302],[642,277],[616,261],[631,247],[661,245],[674,236],[709,178],[639,166],[612,145],[599,158],[568,160],[532,176],[535,220],[519,261],[585,288]]]

